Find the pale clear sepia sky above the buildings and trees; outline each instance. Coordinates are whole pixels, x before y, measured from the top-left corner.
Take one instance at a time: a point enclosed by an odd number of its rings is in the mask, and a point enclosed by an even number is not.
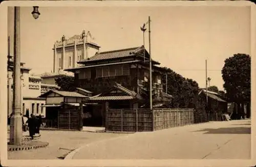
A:
[[[32,7],[20,8],[21,60],[31,73],[53,70],[53,44],[90,31],[100,51],[143,45],[140,26],[151,17],[151,55],[161,66],[196,80],[205,87],[205,59],[210,86],[223,90],[224,60],[237,53],[250,55],[250,7]],[[13,55],[13,9],[8,11],[8,34]],[[148,27],[147,27],[148,28]],[[148,50],[148,33],[145,34]]]

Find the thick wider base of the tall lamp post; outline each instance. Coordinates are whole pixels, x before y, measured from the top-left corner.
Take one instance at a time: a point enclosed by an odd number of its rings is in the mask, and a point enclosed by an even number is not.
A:
[[[10,123],[10,144],[20,145],[22,137],[22,115],[20,115],[20,113],[12,113]]]

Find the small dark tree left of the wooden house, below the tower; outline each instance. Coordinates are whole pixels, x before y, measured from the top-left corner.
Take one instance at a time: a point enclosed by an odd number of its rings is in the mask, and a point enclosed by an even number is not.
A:
[[[76,89],[74,77],[71,76],[62,75],[55,78],[55,83],[60,87],[59,90],[74,91]]]

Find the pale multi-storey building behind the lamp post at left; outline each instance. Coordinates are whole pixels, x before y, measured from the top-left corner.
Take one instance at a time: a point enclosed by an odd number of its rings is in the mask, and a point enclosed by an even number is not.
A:
[[[12,102],[13,102],[13,60],[12,57],[8,61],[8,116],[12,113]],[[21,112],[22,114],[26,114],[26,110],[29,110],[29,114],[33,113],[34,115],[45,115],[45,107],[46,104],[45,98],[38,98],[45,91],[49,91],[51,89],[56,89],[57,86],[53,84],[41,84],[42,79],[37,76],[32,76],[29,74],[31,68],[27,68],[24,66],[25,63],[20,63],[20,81],[22,88],[20,89],[21,93]]]

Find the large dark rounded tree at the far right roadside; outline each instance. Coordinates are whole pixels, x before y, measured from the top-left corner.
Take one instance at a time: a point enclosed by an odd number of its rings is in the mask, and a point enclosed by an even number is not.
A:
[[[235,54],[225,60],[222,68],[224,89],[229,102],[238,106],[237,113],[233,113],[240,119],[244,117],[244,104],[250,102],[251,86],[251,58],[247,54]],[[249,111],[247,112],[249,114]],[[249,115],[247,115],[249,116]]]

